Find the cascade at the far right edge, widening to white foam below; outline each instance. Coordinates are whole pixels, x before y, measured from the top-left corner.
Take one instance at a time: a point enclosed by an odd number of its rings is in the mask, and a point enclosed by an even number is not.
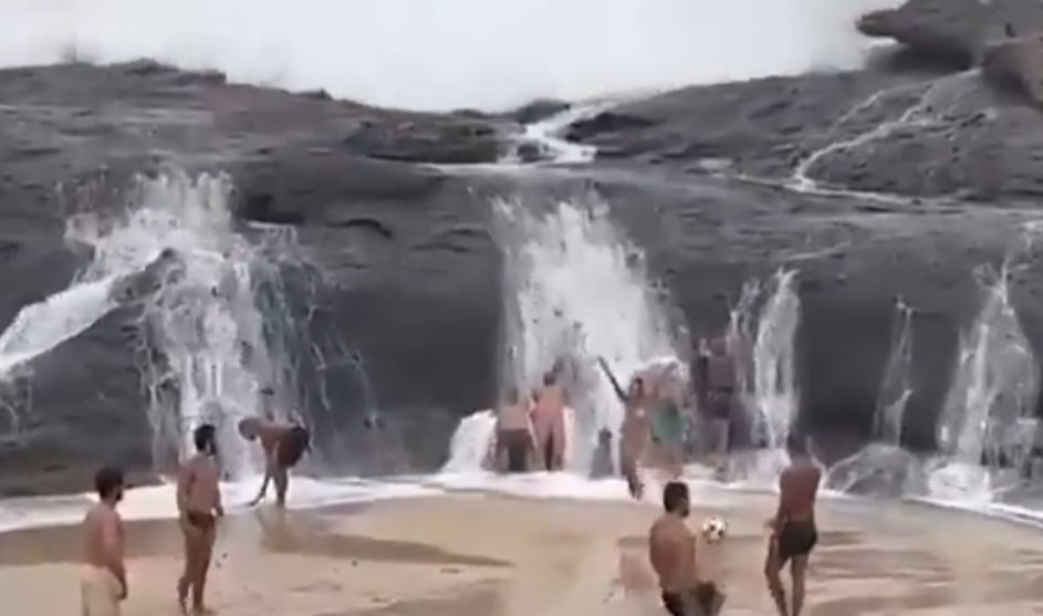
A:
[[[983,285],[981,311],[961,337],[939,425],[945,459],[928,489],[943,499],[990,500],[999,474],[990,471],[1019,468],[1032,431],[1019,424],[1035,410],[1039,367],[1010,301],[1009,263],[992,278]]]

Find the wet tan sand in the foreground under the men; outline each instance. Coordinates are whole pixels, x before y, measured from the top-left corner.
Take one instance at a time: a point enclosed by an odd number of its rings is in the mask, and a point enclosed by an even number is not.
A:
[[[692,525],[723,515],[702,566],[724,614],[773,614],[763,589],[769,497],[698,495]],[[721,504],[722,501],[726,503]],[[713,502],[718,504],[715,505]],[[211,574],[221,616],[573,616],[664,614],[645,561],[648,505],[482,494],[317,511],[261,509],[223,521]],[[1043,536],[927,507],[824,502],[806,614],[1043,614]],[[124,614],[177,614],[174,522],[127,524]],[[75,528],[0,535],[4,614],[79,614]],[[619,584],[620,558],[637,564]]]

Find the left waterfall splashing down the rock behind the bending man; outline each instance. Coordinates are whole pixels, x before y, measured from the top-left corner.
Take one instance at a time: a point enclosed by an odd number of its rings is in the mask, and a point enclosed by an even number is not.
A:
[[[210,421],[222,464],[236,478],[259,462],[234,434],[237,420],[262,408],[261,390],[275,382],[278,362],[253,297],[255,250],[232,229],[229,190],[221,177],[140,180],[124,220],[106,228],[94,217],[76,218],[69,236],[95,250],[83,282],[140,272],[164,251],[169,267],[145,297],[139,323],[156,459],[169,463],[177,450],[190,450],[191,429]]]

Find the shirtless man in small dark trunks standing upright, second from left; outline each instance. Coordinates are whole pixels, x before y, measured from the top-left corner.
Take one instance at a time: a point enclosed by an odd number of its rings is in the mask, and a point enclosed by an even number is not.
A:
[[[185,572],[177,583],[177,602],[186,614],[185,602],[191,589],[192,613],[209,614],[202,594],[217,539],[217,518],[225,515],[218,487],[221,472],[215,461],[217,428],[204,424],[196,428],[192,440],[196,455],[181,467],[177,478],[177,510],[185,537]]]

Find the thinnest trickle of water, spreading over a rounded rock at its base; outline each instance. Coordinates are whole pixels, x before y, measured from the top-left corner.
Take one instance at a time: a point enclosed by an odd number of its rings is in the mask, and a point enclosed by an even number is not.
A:
[[[825,484],[839,492],[900,495],[918,478],[917,459],[901,448],[906,405],[912,396],[912,307],[895,303],[890,355],[877,394],[874,438],[859,451],[834,463]]]

